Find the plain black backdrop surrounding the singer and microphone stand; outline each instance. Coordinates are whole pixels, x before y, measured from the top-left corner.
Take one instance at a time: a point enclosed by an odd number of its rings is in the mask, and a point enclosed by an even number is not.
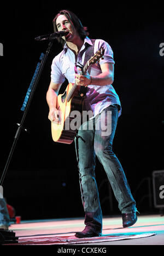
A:
[[[87,7],[86,3],[51,1],[4,4],[0,38],[4,47],[4,56],[0,57],[0,174],[14,141],[16,123],[21,121],[20,109],[40,54],[48,47],[47,41],[37,42],[34,38],[53,32],[52,20],[61,9],[72,10],[88,27],[90,38],[104,39],[113,49],[113,86],[122,104],[113,150],[125,170],[138,211],[156,212],[152,173],[164,168],[164,56],[159,53],[160,43],[164,43],[161,5],[92,3]],[[51,62],[61,50],[55,41],[24,122],[30,134],[22,130],[3,183],[4,197],[22,219],[84,216],[74,143],[52,141],[45,99]],[[98,161],[96,179],[103,214],[120,214],[113,192],[112,201],[108,198],[110,187]]]

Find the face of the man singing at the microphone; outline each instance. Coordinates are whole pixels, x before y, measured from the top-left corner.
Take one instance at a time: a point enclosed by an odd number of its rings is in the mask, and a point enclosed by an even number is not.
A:
[[[60,15],[56,19],[56,27],[58,31],[68,31],[68,35],[62,37],[65,41],[72,42],[74,37],[77,36],[77,32],[74,27],[72,28],[71,23],[65,15]]]

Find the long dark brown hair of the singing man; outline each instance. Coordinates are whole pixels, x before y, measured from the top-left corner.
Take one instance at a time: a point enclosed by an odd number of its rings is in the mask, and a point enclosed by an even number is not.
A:
[[[74,13],[72,13],[70,10],[61,10],[54,18],[53,25],[54,25],[54,32],[57,31],[57,27],[56,27],[56,19],[58,18],[58,16],[60,15],[65,15],[66,18],[69,20],[69,22],[71,23],[71,26],[73,28],[75,28],[75,30],[78,32],[79,37],[83,40],[86,36],[89,35],[89,33],[87,32],[87,27],[83,27],[83,25],[81,24],[81,21],[79,20],[79,18],[77,17],[77,15],[75,15]],[[57,38],[58,42],[60,42],[62,45],[64,45],[66,42],[64,39]]]

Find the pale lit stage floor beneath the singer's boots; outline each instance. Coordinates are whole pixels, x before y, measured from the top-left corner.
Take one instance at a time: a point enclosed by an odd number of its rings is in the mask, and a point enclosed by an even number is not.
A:
[[[31,240],[32,238],[43,237],[74,237],[75,232],[84,229],[84,219],[51,219],[51,220],[28,220],[21,221],[20,224],[11,224],[9,230],[15,232],[19,240]],[[139,237],[145,234],[144,237]],[[153,234],[147,236],[147,234]],[[122,218],[104,217],[102,235],[107,237],[119,237],[115,241],[84,241],[82,238],[76,238],[79,244],[87,243],[94,246],[104,245],[164,245],[164,217],[160,214],[156,215],[138,215],[138,221],[131,227],[122,227]],[[135,236],[136,235],[136,238]],[[139,236],[137,236],[139,235]],[[134,238],[129,238],[133,236]],[[52,244],[52,243],[50,243]],[[67,244],[67,243],[66,243]]]

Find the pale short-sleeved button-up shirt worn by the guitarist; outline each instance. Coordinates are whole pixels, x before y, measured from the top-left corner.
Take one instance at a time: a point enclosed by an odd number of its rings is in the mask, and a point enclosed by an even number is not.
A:
[[[75,72],[77,72],[76,65],[78,62],[84,63],[85,59],[85,47],[87,44],[92,45],[90,38],[86,37],[84,39],[84,44],[80,49],[78,56],[75,56],[73,51],[68,48],[67,44],[63,48],[62,52],[55,56],[52,60],[51,65],[51,80],[54,83],[63,83],[67,78],[69,83],[75,83]],[[101,65],[104,63],[114,64],[113,51],[110,45],[102,39],[95,40],[95,46],[93,53],[95,54],[99,48],[104,48],[103,59],[100,59],[99,65],[93,64],[91,67],[91,76],[97,76],[101,71]],[[59,90],[60,88],[58,88]],[[93,117],[106,109],[109,105],[118,104],[121,109],[120,99],[118,94],[116,94],[115,89],[112,84],[107,86],[87,86],[86,98],[85,98],[86,110],[92,110]],[[119,111],[119,116],[121,110]]]

